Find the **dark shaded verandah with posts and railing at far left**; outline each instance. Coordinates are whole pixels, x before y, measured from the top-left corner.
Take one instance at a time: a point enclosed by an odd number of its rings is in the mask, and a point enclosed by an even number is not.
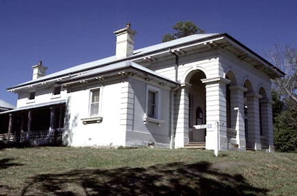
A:
[[[61,144],[65,101],[32,105],[0,113],[0,142],[39,146]]]

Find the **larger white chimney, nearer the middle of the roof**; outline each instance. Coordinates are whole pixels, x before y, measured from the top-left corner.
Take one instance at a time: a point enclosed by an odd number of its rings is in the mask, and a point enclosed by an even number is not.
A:
[[[124,58],[133,55],[135,31],[131,30],[131,23],[126,23],[126,28],[113,33],[116,36],[115,57]]]

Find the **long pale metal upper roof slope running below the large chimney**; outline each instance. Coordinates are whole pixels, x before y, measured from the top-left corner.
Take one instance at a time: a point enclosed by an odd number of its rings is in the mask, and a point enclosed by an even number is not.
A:
[[[180,44],[188,43],[188,42],[191,42],[191,41],[196,41],[196,40],[199,40],[199,39],[205,39],[205,38],[207,38],[209,36],[214,36],[214,35],[218,35],[218,34],[193,34],[191,36],[186,36],[186,37],[183,37],[183,38],[180,38],[180,39],[175,39],[173,41],[168,41],[168,42],[165,42],[165,43],[159,43],[159,44],[156,44],[156,45],[151,45],[151,46],[148,46],[148,47],[144,47],[144,48],[135,50],[134,54],[132,56],[129,56],[129,58],[133,58],[134,56],[140,56],[142,54],[146,54],[146,53],[149,53],[149,52],[154,52],[154,51],[157,51],[157,50],[162,50],[162,49],[165,49],[165,48],[168,48],[168,47],[173,47],[175,45],[180,45]],[[91,61],[89,63],[83,63],[83,64],[80,64],[80,65],[76,65],[74,67],[70,67],[68,69],[63,69],[60,72],[55,72],[53,74],[43,76],[43,77],[38,78],[36,80],[30,80],[28,82],[21,83],[19,85],[15,85],[14,87],[10,87],[8,89],[21,87],[21,86],[24,86],[24,85],[30,85],[30,84],[33,84],[33,83],[38,83],[38,82],[48,80],[48,79],[51,79],[51,78],[58,78],[59,76],[66,76],[67,74],[72,74],[72,73],[80,72],[80,71],[83,71],[83,70],[92,69],[94,67],[107,65],[107,64],[110,64],[110,63],[118,62],[118,61],[124,61],[125,59],[126,58],[118,59],[118,58],[115,58],[115,56],[109,56],[107,58],[102,58],[102,59],[97,60],[97,61]],[[142,66],[142,65],[139,65],[139,66]],[[147,71],[148,70],[150,70],[150,69],[147,69]]]

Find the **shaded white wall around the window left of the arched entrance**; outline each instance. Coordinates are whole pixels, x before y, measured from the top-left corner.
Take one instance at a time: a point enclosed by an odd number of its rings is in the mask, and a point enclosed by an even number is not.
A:
[[[144,145],[154,142],[155,146],[169,147],[170,144],[170,90],[164,89],[153,83],[131,79],[134,90],[133,131],[126,132],[126,145]],[[146,113],[146,88],[147,85],[157,87],[161,94],[159,102],[161,124],[155,122],[144,123]]]

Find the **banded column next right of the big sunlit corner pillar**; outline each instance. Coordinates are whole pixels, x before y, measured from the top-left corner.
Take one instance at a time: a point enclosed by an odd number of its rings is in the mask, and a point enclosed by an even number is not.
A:
[[[244,114],[244,96],[247,91],[245,87],[231,86],[230,89],[230,113],[231,128],[236,129],[236,142],[239,150],[245,151],[245,114]]]

